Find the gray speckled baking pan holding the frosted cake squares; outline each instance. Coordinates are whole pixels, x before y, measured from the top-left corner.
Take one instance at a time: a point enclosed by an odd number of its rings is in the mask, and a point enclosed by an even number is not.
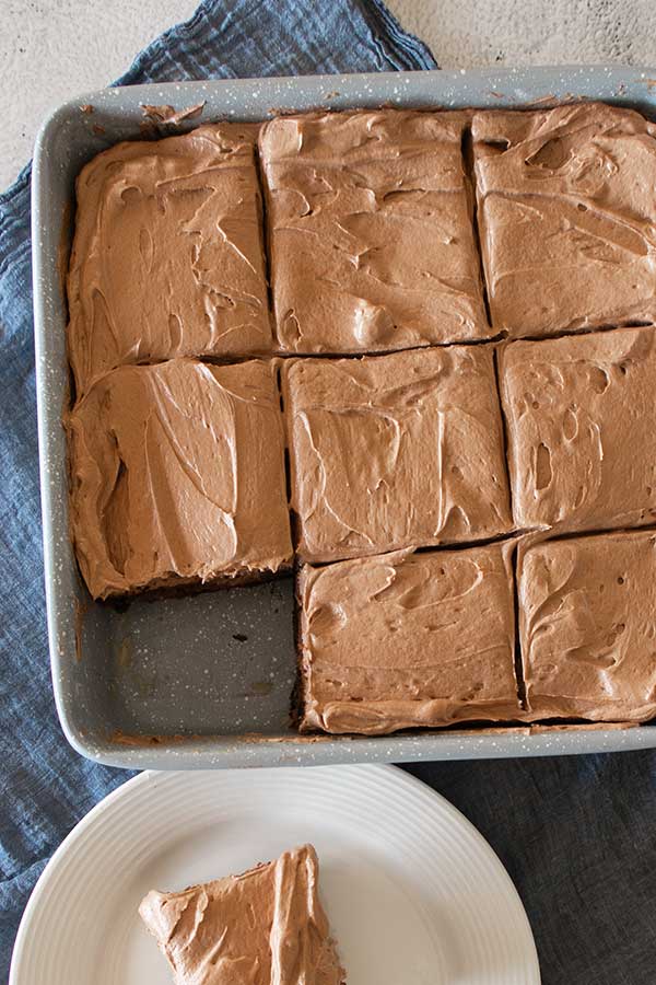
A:
[[[480,758],[656,746],[641,728],[497,729],[382,738],[301,738],[289,725],[295,653],[291,579],[119,613],[91,603],[68,536],[60,424],[67,401],[67,262],[73,184],[112,143],[142,136],[141,104],[200,117],[265,119],[316,106],[522,106],[600,99],[656,118],[656,68],[539,68],[185,82],[87,93],[59,107],[36,142],[33,255],[46,594],[62,728],[83,755],[113,766],[192,768]],[[81,107],[93,106],[93,113]]]

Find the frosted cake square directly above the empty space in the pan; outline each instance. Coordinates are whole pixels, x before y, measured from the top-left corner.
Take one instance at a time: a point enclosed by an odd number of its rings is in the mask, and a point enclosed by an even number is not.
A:
[[[121,367],[67,420],[71,525],[96,599],[291,563],[271,363]]]

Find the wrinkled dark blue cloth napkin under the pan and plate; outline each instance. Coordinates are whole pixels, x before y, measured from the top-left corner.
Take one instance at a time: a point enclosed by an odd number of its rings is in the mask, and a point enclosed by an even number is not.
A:
[[[190,21],[150,45],[118,82],[435,67],[425,46],[403,33],[377,0],[206,0]],[[130,775],[78,756],[63,739],[51,698],[28,167],[0,196],[0,981],[5,981],[21,913],[48,857],[73,824]],[[499,851],[527,905],[544,985],[656,981],[652,753],[410,769],[453,800]]]

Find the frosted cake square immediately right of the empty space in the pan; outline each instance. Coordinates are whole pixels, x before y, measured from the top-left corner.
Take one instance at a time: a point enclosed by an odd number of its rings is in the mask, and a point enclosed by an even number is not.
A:
[[[512,542],[305,566],[301,728],[519,718]]]

